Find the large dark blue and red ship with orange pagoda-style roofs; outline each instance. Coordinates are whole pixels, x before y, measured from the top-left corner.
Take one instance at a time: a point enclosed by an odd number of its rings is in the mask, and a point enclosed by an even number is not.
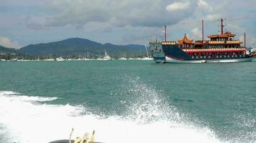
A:
[[[204,40],[204,21],[202,21],[202,39],[193,41],[188,36],[178,41],[150,41],[150,51],[157,63],[205,63],[205,62],[242,62],[252,61],[255,53],[246,49],[242,41],[234,39],[235,34],[223,31],[221,19],[221,33],[208,36]]]

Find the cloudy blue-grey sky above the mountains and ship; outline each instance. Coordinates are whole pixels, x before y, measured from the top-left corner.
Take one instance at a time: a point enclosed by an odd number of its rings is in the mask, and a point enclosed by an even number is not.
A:
[[[225,31],[256,47],[255,0],[0,0],[0,45],[20,48],[81,37],[112,44],[147,44],[163,39],[178,40],[186,33],[201,39]]]

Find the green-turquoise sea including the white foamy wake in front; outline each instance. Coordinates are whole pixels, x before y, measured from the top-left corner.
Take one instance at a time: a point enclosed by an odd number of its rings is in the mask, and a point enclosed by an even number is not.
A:
[[[0,142],[255,143],[256,61],[0,61]]]

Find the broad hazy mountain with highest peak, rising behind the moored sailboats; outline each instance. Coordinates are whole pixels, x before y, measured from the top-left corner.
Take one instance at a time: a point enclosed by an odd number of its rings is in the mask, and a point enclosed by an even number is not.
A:
[[[62,56],[79,56],[89,52],[94,56],[99,56],[103,55],[105,50],[113,57],[120,57],[124,55],[124,53],[129,57],[135,54],[139,56],[146,55],[145,46],[142,45],[101,44],[96,41],[81,38],[65,39],[63,41],[54,41],[47,44],[30,44],[19,49],[19,52],[26,53],[30,56],[48,56],[49,54],[55,56],[60,56],[60,54]]]

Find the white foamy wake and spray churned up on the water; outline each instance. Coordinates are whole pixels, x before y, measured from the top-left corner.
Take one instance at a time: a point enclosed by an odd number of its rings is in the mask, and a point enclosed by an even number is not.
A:
[[[102,117],[88,112],[88,107],[47,104],[57,97],[30,97],[16,92],[0,92],[0,142],[46,143],[73,139],[84,132],[96,131],[96,141],[131,142],[220,142],[208,127],[183,121],[173,107],[140,79],[128,79],[122,102],[122,115]],[[129,98],[129,94],[134,94]]]

